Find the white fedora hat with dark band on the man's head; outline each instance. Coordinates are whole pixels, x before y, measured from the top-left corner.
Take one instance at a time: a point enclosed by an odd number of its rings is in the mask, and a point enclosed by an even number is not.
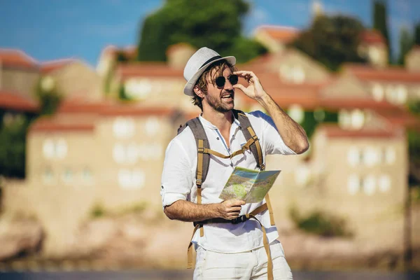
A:
[[[184,87],[184,93],[190,97],[194,96],[194,85],[197,83],[198,78],[207,69],[210,64],[226,59],[230,64],[236,64],[235,57],[221,57],[217,52],[210,48],[200,48],[195,54],[188,59],[186,68],[184,68],[184,78],[187,80],[186,86]]]

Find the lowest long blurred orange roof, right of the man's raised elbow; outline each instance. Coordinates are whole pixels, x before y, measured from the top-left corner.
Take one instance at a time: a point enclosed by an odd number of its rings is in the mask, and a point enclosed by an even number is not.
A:
[[[402,135],[396,131],[390,130],[374,130],[374,129],[362,129],[362,130],[343,130],[338,125],[323,124],[319,125],[316,130],[325,132],[328,138],[397,138]]]

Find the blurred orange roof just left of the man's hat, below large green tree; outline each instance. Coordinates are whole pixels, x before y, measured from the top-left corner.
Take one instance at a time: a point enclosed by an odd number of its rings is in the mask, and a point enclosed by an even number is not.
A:
[[[125,78],[132,77],[175,77],[183,78],[182,69],[172,69],[165,63],[141,62],[136,64],[118,65],[117,75]]]

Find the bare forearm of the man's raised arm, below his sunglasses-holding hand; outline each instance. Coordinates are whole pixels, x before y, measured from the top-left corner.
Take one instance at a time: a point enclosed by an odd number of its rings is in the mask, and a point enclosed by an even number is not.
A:
[[[284,143],[295,153],[300,154],[309,148],[307,134],[304,129],[296,123],[288,114],[274,102],[269,94],[257,99],[274,120],[277,131]]]

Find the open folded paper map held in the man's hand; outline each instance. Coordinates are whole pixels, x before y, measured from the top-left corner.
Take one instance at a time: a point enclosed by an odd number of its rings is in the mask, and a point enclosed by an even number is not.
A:
[[[246,203],[260,202],[267,195],[280,172],[280,170],[259,171],[235,167],[219,198],[244,200]]]

